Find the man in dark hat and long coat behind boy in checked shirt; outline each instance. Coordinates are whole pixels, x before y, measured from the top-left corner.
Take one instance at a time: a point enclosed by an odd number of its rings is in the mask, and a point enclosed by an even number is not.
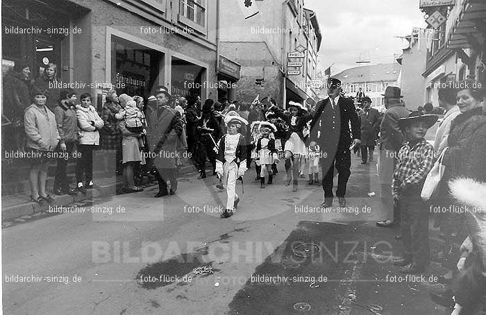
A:
[[[399,210],[392,200],[392,178],[396,165],[396,157],[405,142],[399,120],[408,117],[410,113],[401,103],[401,90],[399,87],[387,87],[385,94],[385,116],[380,125],[380,155],[378,162],[378,175],[380,176],[380,198],[383,209],[387,212],[385,220],[376,225],[387,228],[399,221]]]

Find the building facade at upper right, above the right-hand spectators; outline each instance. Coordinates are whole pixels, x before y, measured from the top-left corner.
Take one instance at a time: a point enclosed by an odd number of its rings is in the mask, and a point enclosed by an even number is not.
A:
[[[442,3],[443,2],[443,3]],[[424,71],[425,102],[438,106],[439,87],[453,86],[471,78],[485,83],[486,3],[478,0],[437,1],[436,6],[421,6],[427,15],[439,11],[446,21],[433,28],[428,43]],[[442,4],[442,6],[437,6]]]

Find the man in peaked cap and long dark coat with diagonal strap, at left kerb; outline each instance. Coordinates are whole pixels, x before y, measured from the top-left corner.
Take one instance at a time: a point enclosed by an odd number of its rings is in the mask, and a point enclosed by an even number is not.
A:
[[[150,151],[155,158],[159,191],[156,198],[167,196],[167,181],[170,181],[170,194],[177,190],[176,154],[180,147],[183,123],[177,117],[176,110],[170,107],[171,94],[167,87],[156,87],[154,95],[157,109],[147,119],[147,140]]]

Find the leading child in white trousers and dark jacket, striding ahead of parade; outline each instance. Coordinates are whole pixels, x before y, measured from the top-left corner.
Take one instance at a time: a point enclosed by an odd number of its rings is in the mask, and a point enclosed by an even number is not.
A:
[[[246,169],[246,142],[244,136],[238,133],[238,129],[248,122],[239,116],[226,116],[224,119],[228,127],[228,133],[221,137],[218,142],[216,157],[216,173],[222,178],[226,186],[226,209],[221,218],[229,218],[237,208],[240,198],[236,194],[236,180],[244,176]]]

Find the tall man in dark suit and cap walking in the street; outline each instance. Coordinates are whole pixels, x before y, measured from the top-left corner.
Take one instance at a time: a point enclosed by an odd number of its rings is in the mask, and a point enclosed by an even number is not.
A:
[[[351,171],[351,148],[360,145],[360,120],[353,101],[340,95],[342,83],[335,78],[327,82],[328,98],[319,101],[311,122],[310,146],[319,145],[321,151],[322,189],[324,203],[333,205],[334,167],[339,172],[336,196],[341,207],[346,207],[346,185]],[[349,124],[351,122],[351,132]]]

